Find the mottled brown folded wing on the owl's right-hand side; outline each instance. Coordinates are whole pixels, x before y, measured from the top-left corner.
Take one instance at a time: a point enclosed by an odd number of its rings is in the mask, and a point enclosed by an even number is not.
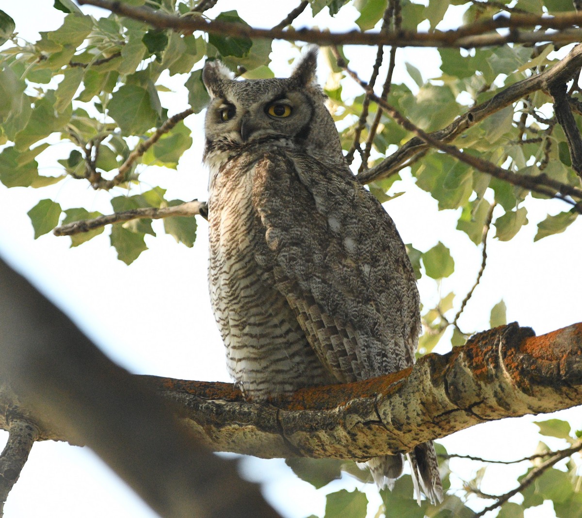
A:
[[[254,168],[272,268],[324,366],[340,382],[414,363],[420,317],[414,272],[392,219],[347,170],[302,154],[267,153]]]

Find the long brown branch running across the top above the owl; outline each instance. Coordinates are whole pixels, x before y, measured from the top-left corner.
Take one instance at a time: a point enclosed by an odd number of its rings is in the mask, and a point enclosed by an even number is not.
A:
[[[305,41],[317,45],[395,45],[397,47],[456,47],[473,48],[508,43],[560,42],[567,44],[582,40],[582,15],[566,13],[559,16],[500,15],[485,22],[475,22],[456,30],[445,32],[417,33],[399,30],[386,33],[350,31],[330,33],[315,29],[257,29],[243,24],[207,20],[201,16],[179,17],[168,15],[148,7],[133,7],[116,0],[77,0],[79,5],[94,5],[113,13],[146,22],[160,29],[176,31],[222,34],[223,36],[267,38],[269,40]],[[558,32],[544,30],[523,32],[518,29],[541,27],[559,29]],[[498,29],[511,29],[505,36]]]

